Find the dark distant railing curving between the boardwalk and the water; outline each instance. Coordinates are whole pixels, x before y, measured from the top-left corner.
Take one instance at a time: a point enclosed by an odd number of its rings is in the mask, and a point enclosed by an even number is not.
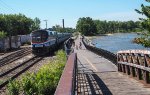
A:
[[[98,55],[100,55],[100,56],[103,56],[104,58],[110,60],[110,61],[113,62],[115,65],[117,65],[117,55],[116,55],[116,54],[114,54],[114,53],[112,53],[112,52],[110,52],[110,51],[104,50],[104,49],[100,49],[100,48],[96,48],[96,47],[94,47],[94,46],[88,45],[88,44],[85,42],[85,39],[82,39],[82,41],[83,41],[83,44],[85,45],[85,47],[86,47],[88,50],[90,50],[90,51],[92,51],[92,52],[94,52],[94,53],[96,53],[96,54],[98,54]]]

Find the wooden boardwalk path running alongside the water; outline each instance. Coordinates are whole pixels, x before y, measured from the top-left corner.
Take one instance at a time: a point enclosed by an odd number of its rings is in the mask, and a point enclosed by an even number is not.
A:
[[[75,41],[79,46],[80,39]],[[82,49],[76,49],[78,59],[78,95],[150,95],[150,88],[117,71],[109,60]]]

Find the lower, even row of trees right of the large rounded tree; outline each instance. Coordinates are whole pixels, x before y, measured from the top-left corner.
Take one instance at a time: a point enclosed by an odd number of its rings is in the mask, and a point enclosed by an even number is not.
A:
[[[140,21],[100,21],[94,20],[98,34],[136,32],[141,30]]]

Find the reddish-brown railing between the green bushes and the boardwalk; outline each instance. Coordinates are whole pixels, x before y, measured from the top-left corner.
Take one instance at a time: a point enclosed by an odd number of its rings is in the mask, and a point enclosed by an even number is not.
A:
[[[77,54],[72,53],[67,60],[55,95],[74,95],[76,87]]]

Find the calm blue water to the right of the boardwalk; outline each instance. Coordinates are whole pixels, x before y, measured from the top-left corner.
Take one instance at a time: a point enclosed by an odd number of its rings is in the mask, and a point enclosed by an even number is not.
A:
[[[92,40],[92,43],[96,47],[102,48],[113,53],[117,53],[119,50],[129,50],[129,49],[143,49],[150,50],[150,48],[145,48],[140,44],[132,43],[132,40],[139,35],[135,33],[115,33],[109,36],[99,36]]]

